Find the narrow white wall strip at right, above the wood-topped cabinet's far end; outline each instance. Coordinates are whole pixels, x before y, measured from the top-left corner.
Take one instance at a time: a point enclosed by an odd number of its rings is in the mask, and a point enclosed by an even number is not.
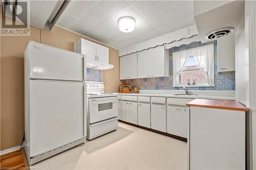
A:
[[[235,33],[236,99],[246,105],[244,13]]]

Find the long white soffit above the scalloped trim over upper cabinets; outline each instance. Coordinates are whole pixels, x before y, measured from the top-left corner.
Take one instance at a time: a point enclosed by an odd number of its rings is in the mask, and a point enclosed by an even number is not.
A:
[[[189,26],[180,30],[176,30],[174,32],[170,32],[146,41],[139,42],[131,46],[127,46],[122,49],[119,49],[119,56],[130,54],[132,52],[141,51],[148,47],[154,47],[156,45],[161,45],[163,43],[172,42],[174,40],[179,40],[181,38],[191,37],[192,35],[197,35],[197,34],[198,34],[198,31],[197,31],[196,25]]]

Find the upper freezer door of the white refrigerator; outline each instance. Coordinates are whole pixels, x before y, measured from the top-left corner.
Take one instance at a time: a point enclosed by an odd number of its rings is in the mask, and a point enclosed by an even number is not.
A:
[[[85,80],[83,55],[35,42],[30,45],[30,78]]]

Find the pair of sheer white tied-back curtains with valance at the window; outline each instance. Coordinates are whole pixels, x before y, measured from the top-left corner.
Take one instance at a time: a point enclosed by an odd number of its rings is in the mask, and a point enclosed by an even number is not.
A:
[[[173,86],[179,85],[180,72],[190,56],[195,58],[199,68],[207,75],[206,84],[214,86],[214,44],[202,45],[173,53]]]

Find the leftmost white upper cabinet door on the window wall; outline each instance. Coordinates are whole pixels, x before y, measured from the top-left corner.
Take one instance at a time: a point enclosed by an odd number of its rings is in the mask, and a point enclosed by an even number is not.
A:
[[[120,80],[137,78],[137,53],[120,57]]]

